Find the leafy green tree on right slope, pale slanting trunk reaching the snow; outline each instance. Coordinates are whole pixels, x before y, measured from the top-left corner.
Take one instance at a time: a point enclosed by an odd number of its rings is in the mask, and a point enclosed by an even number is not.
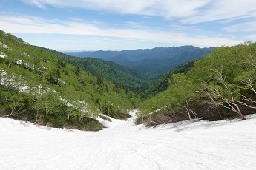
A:
[[[234,62],[237,55],[237,48],[223,47],[214,50],[210,55],[197,61],[192,72],[197,75],[195,78],[203,84],[201,92],[205,98],[203,102],[211,108],[222,106],[229,109],[244,120],[240,109],[240,95],[237,85],[233,83],[236,75],[240,74],[240,67]]]

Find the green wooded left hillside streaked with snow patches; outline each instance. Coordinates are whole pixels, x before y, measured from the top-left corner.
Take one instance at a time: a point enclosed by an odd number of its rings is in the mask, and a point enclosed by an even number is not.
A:
[[[0,31],[0,115],[74,129],[99,130],[99,114],[128,118],[136,96],[56,55]]]

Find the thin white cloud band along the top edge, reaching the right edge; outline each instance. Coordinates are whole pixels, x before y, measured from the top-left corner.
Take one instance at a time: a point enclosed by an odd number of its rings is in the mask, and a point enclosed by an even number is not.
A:
[[[202,23],[256,16],[255,0],[22,0],[39,8],[73,7],[96,12],[163,16],[182,23]]]

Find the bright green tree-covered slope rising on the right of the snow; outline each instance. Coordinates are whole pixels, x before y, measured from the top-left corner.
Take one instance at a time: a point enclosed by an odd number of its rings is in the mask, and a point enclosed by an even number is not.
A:
[[[191,118],[238,117],[256,112],[256,44],[216,48],[186,73],[172,74],[168,89],[140,104],[148,125]]]

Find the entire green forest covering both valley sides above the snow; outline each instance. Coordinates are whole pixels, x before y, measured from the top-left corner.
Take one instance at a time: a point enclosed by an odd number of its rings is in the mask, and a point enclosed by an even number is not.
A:
[[[240,118],[256,109],[256,44],[215,48],[157,81],[111,61],[75,58],[0,31],[0,116],[100,130],[97,117],[154,126]]]

